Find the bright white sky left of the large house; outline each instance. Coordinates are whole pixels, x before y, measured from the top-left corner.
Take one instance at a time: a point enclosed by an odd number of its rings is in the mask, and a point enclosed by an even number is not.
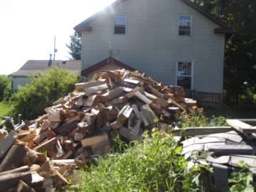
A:
[[[114,0],[0,0],[0,75],[27,60],[68,60],[73,28]]]

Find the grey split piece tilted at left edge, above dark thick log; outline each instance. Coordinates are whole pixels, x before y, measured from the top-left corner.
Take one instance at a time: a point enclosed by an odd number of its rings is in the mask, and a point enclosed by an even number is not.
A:
[[[6,154],[6,152],[10,149],[11,145],[14,143],[18,134],[11,130],[8,136],[5,139],[0,141],[0,159]]]

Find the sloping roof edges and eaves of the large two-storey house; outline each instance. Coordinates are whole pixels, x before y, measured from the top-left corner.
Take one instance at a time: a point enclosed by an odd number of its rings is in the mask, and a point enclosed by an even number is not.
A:
[[[110,7],[117,6],[117,4],[122,3],[126,0],[117,0],[114,1],[114,3],[110,4]],[[210,21],[213,21],[214,23],[218,24],[218,26],[221,27],[221,29],[218,30],[218,33],[233,33],[233,29],[228,26],[227,23],[221,21],[219,18],[213,16],[212,14],[208,13],[207,11],[204,11],[201,6],[198,6],[198,4],[192,2],[191,0],[180,0],[183,1],[184,4],[187,4],[192,9],[195,9],[198,11],[199,14],[202,14],[203,16],[206,16],[206,18],[210,19]],[[82,23],[79,23],[77,26],[74,27],[74,30],[80,34],[82,34],[82,31],[92,31],[91,26],[87,26],[87,24],[97,18],[102,13],[102,11],[97,12],[96,14],[90,16],[89,18],[85,19],[85,21],[82,21]]]

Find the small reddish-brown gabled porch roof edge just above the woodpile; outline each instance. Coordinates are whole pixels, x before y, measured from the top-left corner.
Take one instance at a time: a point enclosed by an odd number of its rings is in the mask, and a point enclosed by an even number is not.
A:
[[[96,63],[95,65],[90,66],[89,68],[85,68],[81,71],[81,75],[87,75],[88,73],[92,73],[93,71],[97,70],[98,68],[102,68],[103,66],[113,63],[114,65],[119,66],[120,68],[124,68],[126,70],[134,71],[135,69],[130,67],[129,65],[126,65],[119,60],[116,60],[114,58],[106,58],[105,60],[100,61],[99,63]]]

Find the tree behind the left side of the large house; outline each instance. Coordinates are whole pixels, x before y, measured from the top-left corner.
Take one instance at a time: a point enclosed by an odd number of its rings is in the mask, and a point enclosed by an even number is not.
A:
[[[74,33],[70,36],[70,44],[66,44],[66,46],[70,49],[68,52],[71,55],[70,59],[80,60],[82,53],[82,40],[78,33]]]

